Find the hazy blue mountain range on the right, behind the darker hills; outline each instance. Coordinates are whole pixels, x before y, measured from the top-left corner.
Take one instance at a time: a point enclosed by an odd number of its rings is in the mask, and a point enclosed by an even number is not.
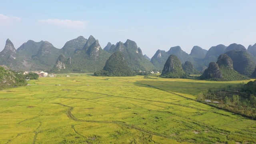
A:
[[[216,62],[220,54],[228,53],[232,50],[236,50],[238,53],[243,53],[243,55],[246,55],[244,56],[244,58],[248,59],[246,62],[250,61],[248,62],[250,63],[250,66],[255,68],[256,44],[254,44],[254,46],[249,46],[248,50],[246,50],[246,48],[240,44],[230,44],[228,47],[220,44],[217,46],[212,46],[208,51],[200,48],[199,46],[194,46],[190,54],[184,52],[180,46],[175,46],[171,47],[168,52],[165,52],[164,50],[157,50],[154,56],[151,58],[151,62],[158,70],[162,70],[168,56],[174,54],[180,59],[182,64],[184,64],[186,61],[190,61],[196,70],[203,71],[207,68],[210,62]],[[236,69],[236,66],[234,67]]]

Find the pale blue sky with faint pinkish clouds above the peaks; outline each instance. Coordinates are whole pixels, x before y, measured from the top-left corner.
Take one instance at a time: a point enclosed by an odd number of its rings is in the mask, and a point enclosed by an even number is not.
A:
[[[1,0],[0,51],[46,40],[62,48],[90,35],[108,42],[134,40],[150,58],[181,46],[256,43],[256,0]]]

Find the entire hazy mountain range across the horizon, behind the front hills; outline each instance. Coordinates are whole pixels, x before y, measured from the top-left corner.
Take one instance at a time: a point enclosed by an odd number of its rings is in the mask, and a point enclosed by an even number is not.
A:
[[[63,48],[55,48],[50,42],[28,40],[17,50],[12,42],[6,40],[4,50],[0,52],[0,64],[13,70],[45,70],[56,73],[95,72],[102,70],[106,61],[116,51],[122,52],[128,66],[133,71],[162,71],[170,55],[175,55],[184,64],[192,64],[198,71],[205,70],[210,62],[217,62],[221,54],[227,54],[234,62],[234,70],[250,76],[255,69],[256,44],[246,49],[241,44],[222,44],[204,50],[194,46],[187,54],[180,46],[171,47],[169,51],[157,50],[150,59],[143,55],[140,47],[132,40],[111,44],[108,42],[102,49],[99,41],[93,36],[88,39],[78,36],[66,42]],[[188,63],[189,62],[189,63]],[[241,66],[242,65],[242,66]],[[194,70],[193,70],[194,71]],[[196,71],[194,71],[196,72]]]

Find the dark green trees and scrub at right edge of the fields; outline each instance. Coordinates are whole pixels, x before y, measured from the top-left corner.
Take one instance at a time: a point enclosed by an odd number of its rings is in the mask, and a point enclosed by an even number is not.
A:
[[[211,90],[200,94],[198,100],[216,100],[219,108],[256,119],[256,80],[239,84],[237,88],[228,86],[224,89]]]

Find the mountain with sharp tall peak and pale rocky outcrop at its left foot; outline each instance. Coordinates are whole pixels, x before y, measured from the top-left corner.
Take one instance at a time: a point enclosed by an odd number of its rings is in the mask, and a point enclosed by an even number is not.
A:
[[[82,50],[76,50],[72,57],[66,58],[64,55],[60,55],[51,72],[93,73],[103,69],[109,56],[108,52],[102,50],[98,40],[90,36]]]

